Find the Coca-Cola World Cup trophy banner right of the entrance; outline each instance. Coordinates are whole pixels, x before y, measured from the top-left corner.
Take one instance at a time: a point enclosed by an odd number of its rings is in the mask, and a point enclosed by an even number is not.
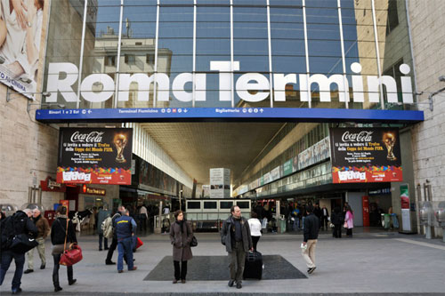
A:
[[[397,128],[331,128],[333,183],[403,180]]]

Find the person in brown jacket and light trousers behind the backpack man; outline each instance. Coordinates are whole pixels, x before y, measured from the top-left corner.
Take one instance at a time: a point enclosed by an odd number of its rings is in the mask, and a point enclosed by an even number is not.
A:
[[[41,260],[40,269],[44,269],[46,267],[46,258],[44,257],[44,240],[50,234],[50,224],[48,223],[48,220],[46,220],[46,218],[41,215],[39,209],[34,209],[32,215],[32,221],[34,222],[38,230],[38,234],[36,236],[36,242],[38,243],[38,245],[36,246],[36,249]],[[34,249],[31,249],[28,251],[28,269],[25,270],[24,274],[28,274],[33,271]]]

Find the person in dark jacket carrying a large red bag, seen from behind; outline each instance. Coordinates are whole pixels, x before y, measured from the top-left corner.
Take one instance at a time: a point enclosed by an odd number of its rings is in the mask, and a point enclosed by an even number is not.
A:
[[[69,244],[76,243],[76,231],[74,230],[73,223],[67,217],[67,208],[60,205],[56,211],[56,220],[53,221],[53,226],[51,228],[51,243],[53,244],[53,285],[54,292],[59,292],[62,290],[61,284],[59,282],[59,268],[61,265],[61,254],[65,249],[65,240],[67,248]],[[77,279],[73,276],[73,266],[67,266],[68,284],[72,285],[77,282]]]

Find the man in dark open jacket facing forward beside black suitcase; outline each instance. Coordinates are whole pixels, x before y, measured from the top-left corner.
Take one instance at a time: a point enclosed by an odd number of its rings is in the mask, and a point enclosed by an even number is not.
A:
[[[252,236],[246,218],[241,216],[241,210],[238,205],[231,207],[231,216],[223,222],[221,229],[221,243],[225,245],[229,253],[231,264],[231,280],[229,286],[237,282],[237,288],[242,288],[242,276],[244,272],[244,263],[246,253],[254,251],[252,246]]]

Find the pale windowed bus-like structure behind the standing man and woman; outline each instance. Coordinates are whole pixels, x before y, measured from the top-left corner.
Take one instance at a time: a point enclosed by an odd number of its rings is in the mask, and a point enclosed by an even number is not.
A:
[[[251,199],[189,199],[185,205],[185,218],[191,221],[193,230],[220,230],[223,221],[231,215],[231,206],[238,205],[241,215],[250,218]]]

